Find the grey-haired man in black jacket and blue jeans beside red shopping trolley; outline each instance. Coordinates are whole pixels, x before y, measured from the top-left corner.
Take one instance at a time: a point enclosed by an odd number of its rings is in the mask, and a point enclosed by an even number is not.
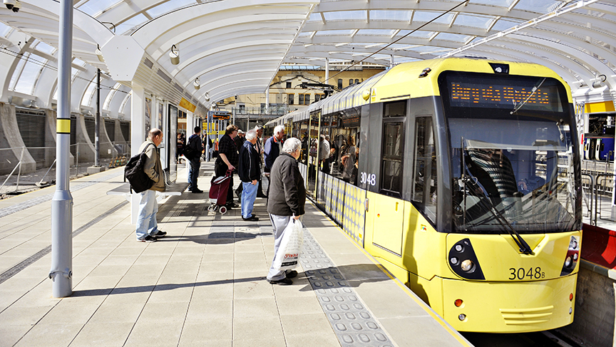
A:
[[[240,168],[237,175],[242,180],[242,219],[256,222],[259,220],[252,214],[252,207],[257,197],[259,177],[261,177],[260,155],[255,148],[257,132],[249,130],[246,133],[246,141],[240,148]]]

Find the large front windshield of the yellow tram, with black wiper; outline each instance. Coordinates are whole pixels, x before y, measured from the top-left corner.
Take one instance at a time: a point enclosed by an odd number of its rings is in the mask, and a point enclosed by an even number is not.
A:
[[[530,89],[543,82],[528,83]],[[555,103],[551,113],[536,104],[451,105],[446,103],[456,232],[531,234],[578,227],[566,105]]]

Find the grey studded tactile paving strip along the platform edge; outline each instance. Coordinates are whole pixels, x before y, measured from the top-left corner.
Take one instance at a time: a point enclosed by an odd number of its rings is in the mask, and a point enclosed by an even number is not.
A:
[[[308,229],[304,229],[304,246],[299,261],[341,346],[394,346],[379,321]]]

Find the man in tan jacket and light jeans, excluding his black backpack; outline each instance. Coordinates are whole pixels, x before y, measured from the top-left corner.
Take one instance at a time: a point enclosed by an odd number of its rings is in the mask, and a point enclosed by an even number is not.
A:
[[[165,191],[165,177],[163,177],[163,166],[160,165],[160,154],[158,146],[163,142],[163,132],[153,128],[148,134],[148,138],[139,147],[139,152],[145,150],[148,159],[145,160],[143,171],[154,184],[149,190],[138,193],[139,213],[137,215],[137,241],[155,242],[157,238],[164,237],[167,233],[158,230],[156,222],[156,212],[158,212],[158,202],[156,192]]]

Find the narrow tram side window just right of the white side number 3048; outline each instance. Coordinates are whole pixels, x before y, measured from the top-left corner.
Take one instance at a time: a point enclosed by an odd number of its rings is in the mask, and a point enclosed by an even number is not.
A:
[[[383,124],[383,159],[381,161],[381,193],[401,197],[404,122]]]

